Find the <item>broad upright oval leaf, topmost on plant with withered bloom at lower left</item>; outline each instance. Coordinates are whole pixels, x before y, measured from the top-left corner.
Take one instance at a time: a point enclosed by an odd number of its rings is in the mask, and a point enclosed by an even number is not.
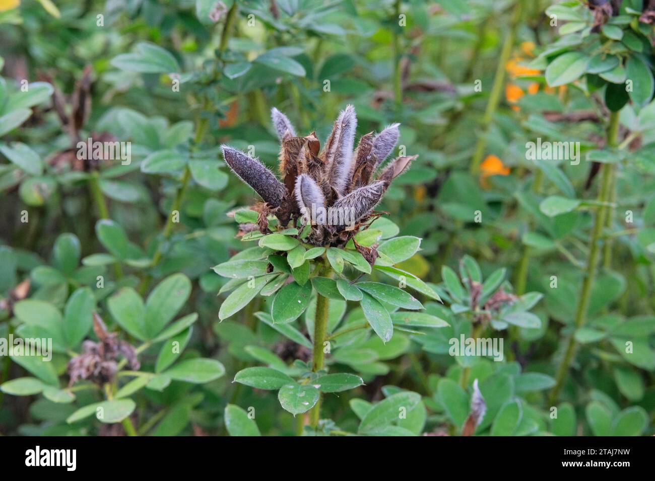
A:
[[[145,301],[145,330],[153,338],[175,317],[191,294],[191,281],[173,274],[161,281]]]

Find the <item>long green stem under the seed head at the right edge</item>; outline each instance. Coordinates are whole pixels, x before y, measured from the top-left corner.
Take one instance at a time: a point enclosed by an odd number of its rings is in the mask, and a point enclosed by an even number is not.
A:
[[[607,128],[607,144],[616,145],[616,135],[618,133],[618,112],[612,112],[610,115],[610,123]],[[598,193],[598,201],[600,203],[597,211],[596,218],[593,224],[593,231],[591,232],[591,240],[589,241],[589,255],[587,257],[587,269],[582,282],[582,289],[580,297],[578,298],[578,305],[576,306],[576,313],[574,317],[574,328],[580,329],[584,326],[586,321],[586,314],[589,308],[589,300],[591,299],[591,289],[593,287],[593,280],[596,276],[596,265],[600,257],[600,241],[603,234],[603,227],[605,227],[605,220],[607,213],[610,209],[607,202],[610,198],[610,190],[612,187],[614,168],[611,164],[603,164],[603,177],[601,179],[601,187]],[[574,332],[571,333],[567,344],[564,357],[562,358],[557,375],[555,376],[555,386],[550,392],[548,402],[552,405],[559,397],[559,391],[562,389],[563,382],[569,372],[569,366],[573,361],[574,353],[576,351],[576,341]]]

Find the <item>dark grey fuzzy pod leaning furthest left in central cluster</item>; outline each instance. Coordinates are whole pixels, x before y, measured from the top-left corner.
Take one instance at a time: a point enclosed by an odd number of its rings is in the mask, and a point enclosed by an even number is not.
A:
[[[238,177],[261,196],[271,207],[278,207],[288,192],[284,184],[259,160],[229,147],[221,145],[223,158]]]

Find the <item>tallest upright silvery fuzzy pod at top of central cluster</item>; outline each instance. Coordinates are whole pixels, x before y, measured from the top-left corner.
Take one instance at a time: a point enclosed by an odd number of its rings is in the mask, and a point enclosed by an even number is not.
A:
[[[356,129],[355,109],[352,105],[347,105],[345,110],[339,113],[326,145],[328,178],[339,194],[343,194],[350,183],[348,176],[351,173]]]

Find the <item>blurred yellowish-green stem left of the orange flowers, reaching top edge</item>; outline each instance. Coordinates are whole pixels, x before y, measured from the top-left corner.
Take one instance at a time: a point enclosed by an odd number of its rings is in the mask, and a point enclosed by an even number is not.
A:
[[[514,15],[512,15],[512,21],[510,23],[510,29],[505,37],[504,43],[502,44],[502,50],[500,50],[500,58],[498,58],[498,65],[496,65],[496,75],[493,80],[493,86],[491,87],[491,94],[489,94],[489,102],[487,103],[487,109],[485,110],[485,116],[482,120],[482,132],[479,137],[477,137],[476,150],[474,151],[473,158],[470,165],[470,173],[476,174],[477,169],[482,162],[482,156],[485,153],[485,148],[487,147],[487,134],[489,133],[489,126],[491,125],[491,120],[493,115],[498,108],[498,103],[500,103],[500,95],[502,94],[502,88],[505,84],[505,69],[507,61],[510,60],[510,55],[512,55],[512,48],[514,47],[514,39],[516,37],[516,29],[521,20],[521,9],[523,7],[523,0],[517,0],[514,5]]]

